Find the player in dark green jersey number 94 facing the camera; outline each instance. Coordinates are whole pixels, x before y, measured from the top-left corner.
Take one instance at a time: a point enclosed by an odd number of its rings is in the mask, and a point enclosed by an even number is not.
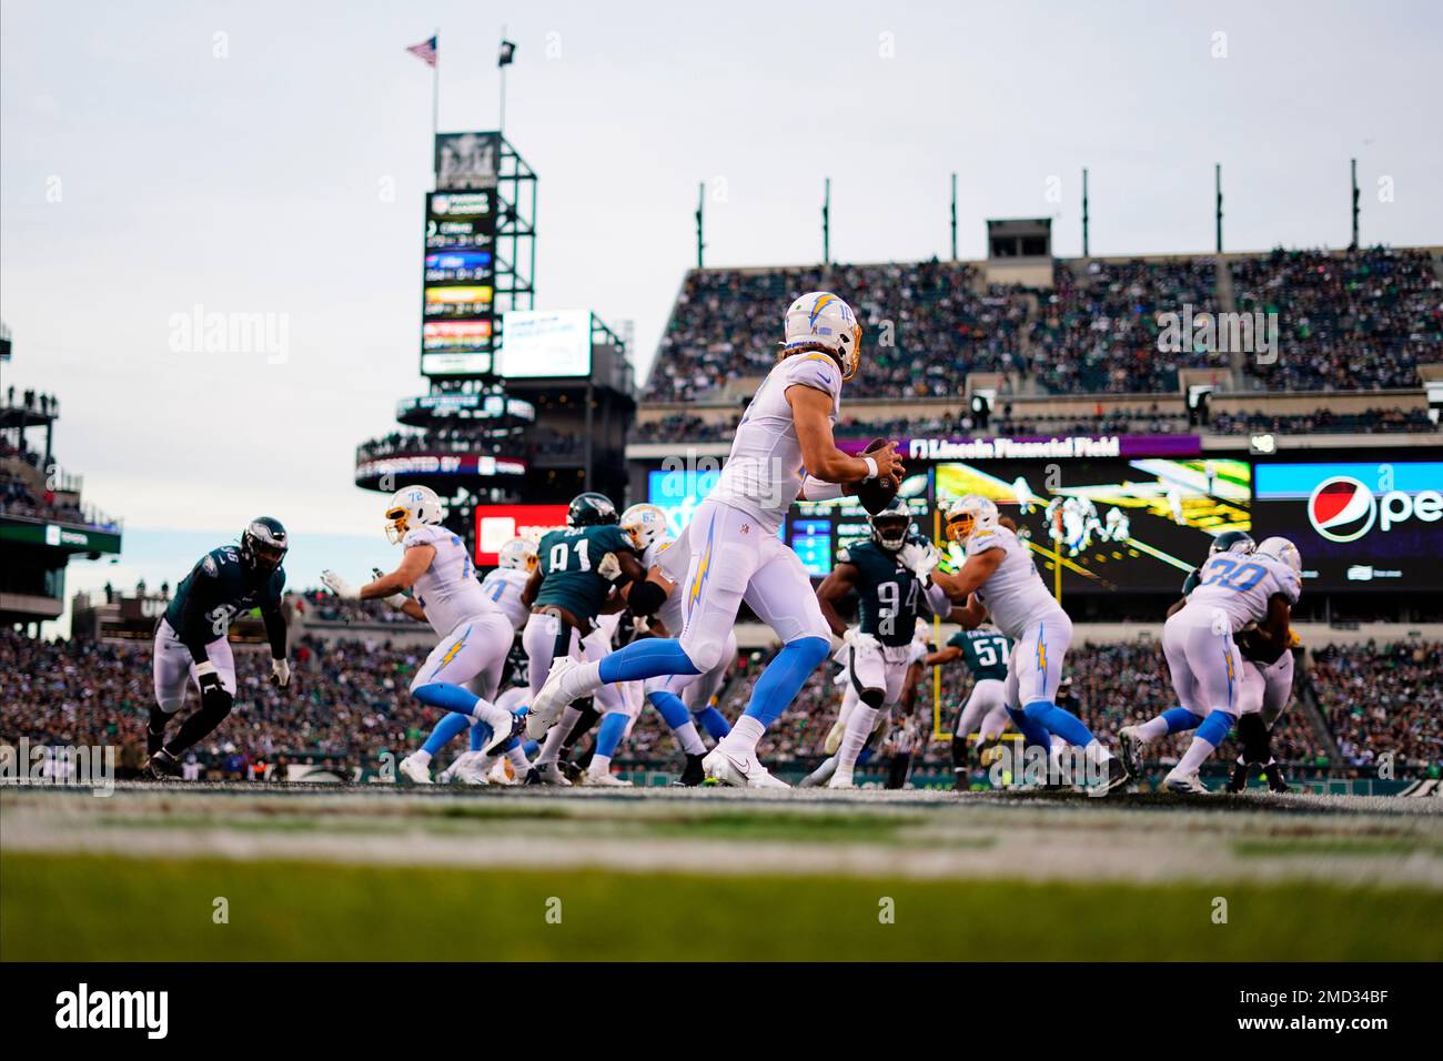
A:
[[[828,788],[854,787],[851,775],[861,746],[883,709],[900,700],[908,670],[921,658],[913,642],[918,616],[924,611],[935,615],[952,611],[947,592],[932,582],[941,554],[912,530],[906,502],[893,498],[869,523],[872,536],[837,550],[837,566],[817,588],[823,618],[843,638],[841,652],[857,700],[847,712],[837,771]],[[837,605],[853,590],[856,629],[837,614]]]

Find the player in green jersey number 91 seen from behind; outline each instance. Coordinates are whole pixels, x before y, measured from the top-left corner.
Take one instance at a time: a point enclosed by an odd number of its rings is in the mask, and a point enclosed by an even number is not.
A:
[[[545,684],[554,658],[583,658],[582,638],[596,629],[597,615],[622,608],[631,608],[633,615],[651,615],[667,599],[661,586],[646,580],[636,543],[620,528],[616,505],[605,494],[577,494],[566,512],[566,530],[543,537],[537,557],[531,580],[521,590],[522,603],[531,608],[521,644],[527,651],[532,696]],[[623,586],[631,589],[620,596],[616,590]],[[558,756],[583,713],[595,716],[589,699],[567,706],[551,728],[535,715],[528,717],[528,735],[538,741],[545,738],[534,764],[534,781],[570,784]]]

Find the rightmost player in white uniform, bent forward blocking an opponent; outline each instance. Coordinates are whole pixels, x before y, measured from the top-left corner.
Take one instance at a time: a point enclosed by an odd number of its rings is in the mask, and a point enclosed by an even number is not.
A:
[[[1227,537],[1227,546],[1202,564],[1196,588],[1163,626],[1163,654],[1180,706],[1118,732],[1123,758],[1128,771],[1136,774],[1141,748],[1149,741],[1196,729],[1182,759],[1163,778],[1163,784],[1175,793],[1206,794],[1208,787],[1198,777],[1198,769],[1227,739],[1241,715],[1264,710],[1267,677],[1257,667],[1244,664],[1235,635],[1255,624],[1255,637],[1261,642],[1286,650],[1291,642],[1291,606],[1303,592],[1303,557],[1291,541],[1266,538],[1253,550],[1248,536],[1238,533]],[[1291,652],[1283,651],[1281,655],[1291,661]],[[1278,664],[1274,661],[1271,665]],[[1284,665],[1287,691],[1291,691],[1291,665]],[[1250,671],[1254,671],[1251,678]],[[1271,697],[1278,713],[1287,703],[1280,677],[1281,668]]]

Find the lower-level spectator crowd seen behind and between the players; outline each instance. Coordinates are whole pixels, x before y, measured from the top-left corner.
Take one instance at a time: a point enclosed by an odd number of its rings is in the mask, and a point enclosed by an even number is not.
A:
[[[328,642],[307,635],[293,648],[291,689],[280,693],[266,681],[264,652],[238,651],[235,710],[196,749],[198,758],[211,771],[232,774],[286,761],[375,768],[382,752],[400,755],[417,746],[439,717],[407,694],[424,655],[424,648],[397,648],[382,638]],[[727,717],[740,713],[769,658],[765,651],[739,657],[719,697]],[[1274,754],[1294,767],[1356,774],[1391,751],[1398,778],[1437,777],[1443,693],[1430,676],[1440,664],[1443,645],[1437,644],[1319,650],[1312,681],[1345,762],[1329,761],[1297,703],[1274,732]],[[810,765],[823,756],[821,743],[841,700],[837,673],[831,664],[818,668],[769,730],[769,762]],[[1175,703],[1156,641],[1078,645],[1068,655],[1068,673],[1082,717],[1114,746],[1124,725]],[[945,726],[954,725],[970,689],[964,667],[942,668]],[[39,641],[12,629],[0,632],[0,741],[13,743],[25,736],[58,745],[115,743],[121,762],[139,765],[152,703],[149,644]],[[921,732],[929,732],[929,677],[918,690],[916,712]],[[1175,762],[1185,746],[1180,738],[1156,745],[1157,761]],[[1224,754],[1231,752],[1229,743]],[[675,743],[659,716],[644,709],[618,765],[668,768],[675,759]],[[913,762],[945,771],[948,748],[922,741]]]

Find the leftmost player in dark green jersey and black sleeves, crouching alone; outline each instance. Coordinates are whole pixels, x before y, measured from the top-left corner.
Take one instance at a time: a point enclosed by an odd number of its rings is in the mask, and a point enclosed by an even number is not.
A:
[[[240,546],[221,546],[202,556],[180,580],[175,599],[156,624],[156,706],[150,709],[146,771],[154,778],[180,772],[180,756],[208,736],[235,700],[235,657],[227,634],[238,615],[261,609],[271,650],[273,686],[290,684],[286,663],[286,618],[280,599],[286,589],[281,562],[290,549],[286,528],[268,515],[251,520]],[[201,709],[166,741],[166,723],[185,703],[195,681]]]

